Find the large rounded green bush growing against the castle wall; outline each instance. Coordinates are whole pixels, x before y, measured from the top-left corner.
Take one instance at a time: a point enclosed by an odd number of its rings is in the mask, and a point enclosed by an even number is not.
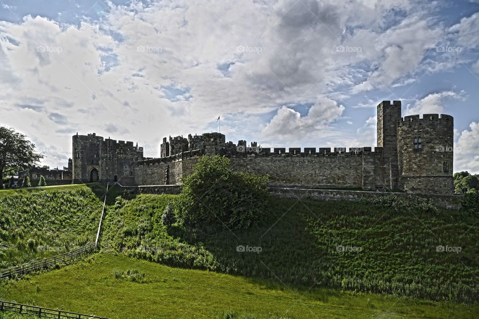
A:
[[[182,180],[176,212],[187,226],[248,228],[267,212],[267,181],[267,176],[233,171],[226,157],[204,156]]]

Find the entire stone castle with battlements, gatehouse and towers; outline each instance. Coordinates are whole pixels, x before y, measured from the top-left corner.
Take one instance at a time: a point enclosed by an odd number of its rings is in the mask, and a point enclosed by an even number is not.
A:
[[[173,185],[204,155],[225,155],[232,168],[270,176],[270,185],[314,188],[454,192],[454,119],[444,114],[401,116],[401,101],[377,106],[377,147],[261,148],[226,142],[221,133],[165,137],[160,158],[145,158],[133,142],[95,133],[73,136],[73,182]]]

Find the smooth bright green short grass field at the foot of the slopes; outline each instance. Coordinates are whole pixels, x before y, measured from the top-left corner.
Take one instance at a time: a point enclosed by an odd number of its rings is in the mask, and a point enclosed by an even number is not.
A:
[[[136,269],[143,282],[116,279],[114,270]],[[58,289],[61,287],[61,289]],[[1,298],[53,309],[137,318],[477,318],[477,306],[417,302],[404,298],[341,293],[199,270],[170,268],[109,253],[86,262],[0,287]]]

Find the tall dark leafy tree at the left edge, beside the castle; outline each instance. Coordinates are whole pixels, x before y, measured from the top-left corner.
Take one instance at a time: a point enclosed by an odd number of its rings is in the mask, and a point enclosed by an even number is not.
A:
[[[0,126],[0,173],[1,180],[7,174],[28,169],[43,158],[35,153],[35,145],[26,136],[12,128]],[[3,183],[0,182],[0,188]]]

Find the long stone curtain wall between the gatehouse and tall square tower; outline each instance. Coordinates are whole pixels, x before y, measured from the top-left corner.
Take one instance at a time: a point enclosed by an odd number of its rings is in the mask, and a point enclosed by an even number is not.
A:
[[[182,175],[193,172],[199,155],[173,159],[144,160],[134,168],[138,185],[173,185],[180,183]],[[289,155],[236,153],[227,155],[231,167],[270,176],[270,185],[357,187],[382,189],[383,182],[377,167],[382,162],[380,149],[364,153],[297,153]]]

